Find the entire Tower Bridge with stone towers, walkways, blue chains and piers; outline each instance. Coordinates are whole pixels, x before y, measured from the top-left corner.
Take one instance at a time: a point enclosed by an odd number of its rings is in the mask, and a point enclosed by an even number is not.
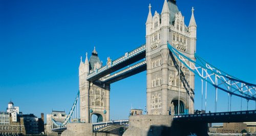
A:
[[[240,111],[234,112],[235,115],[231,112],[231,96],[256,101],[256,85],[230,76],[200,58],[196,54],[196,41],[197,25],[194,8],[191,10],[189,25],[186,26],[184,16],[179,11],[175,0],[165,0],[161,13],[156,11],[154,16],[152,16],[150,5],[146,20],[146,44],[131,52],[125,52],[114,61],[108,58],[104,66],[95,48],[90,59],[88,54],[84,61],[81,58],[79,99],[77,96],[65,124],[59,125],[59,129],[54,130],[66,129],[68,125],[68,131],[63,133],[68,135],[74,134],[72,129],[83,131],[86,128],[87,132],[91,132],[104,130],[104,127],[111,128],[111,125],[120,123],[120,125],[129,124],[125,135],[133,135],[133,133],[148,135],[163,131],[168,133],[169,130],[181,134],[178,131],[181,131],[182,122],[186,120],[197,121],[201,126],[199,128],[202,129],[207,128],[206,122],[199,120],[223,121],[222,119],[228,117],[228,121],[236,121],[238,117],[248,117],[244,120],[240,118],[240,121],[256,121],[255,110],[243,111],[241,115],[238,115]],[[147,115],[130,117],[129,123],[127,120],[110,121],[111,83],[143,71],[146,71]],[[204,82],[214,87],[216,113],[212,113],[213,115],[194,115],[195,76],[202,81],[202,94]],[[230,110],[224,115],[217,112],[219,91],[230,96]],[[77,127],[79,123],[69,123],[73,111],[76,111],[75,108],[77,111],[80,110],[79,121],[84,127]],[[246,114],[243,114],[244,112]],[[93,115],[97,116],[98,123],[88,125],[92,123]],[[186,127],[189,126],[183,125],[183,128]],[[205,134],[205,131],[199,131],[196,128],[195,131]],[[185,132],[188,131],[183,130],[183,133]]]

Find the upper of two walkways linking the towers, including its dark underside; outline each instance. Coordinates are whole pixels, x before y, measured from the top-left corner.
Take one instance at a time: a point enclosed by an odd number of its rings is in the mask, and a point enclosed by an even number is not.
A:
[[[114,60],[110,66],[103,66],[98,70],[93,71],[90,73],[87,77],[87,80],[92,82],[95,81],[101,77],[104,77],[110,73],[113,73],[115,71],[118,71],[122,69],[123,67],[133,64],[146,56],[146,45],[133,50],[130,53],[125,53],[124,56]]]

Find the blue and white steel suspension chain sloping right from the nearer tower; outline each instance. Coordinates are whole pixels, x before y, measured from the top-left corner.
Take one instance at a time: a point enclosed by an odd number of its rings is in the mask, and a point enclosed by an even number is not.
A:
[[[181,61],[191,72],[199,76],[202,80],[210,83],[212,86],[218,89],[223,90],[226,93],[229,93],[230,95],[256,101],[255,84],[239,80],[238,78],[230,76],[226,73],[221,73],[219,69],[210,65],[206,61],[202,61],[202,59],[200,59],[200,62],[204,65],[197,63],[196,61],[191,60],[187,56],[180,53],[174,47],[170,46],[169,43],[167,44],[170,52],[172,52],[173,55],[179,59],[179,61]],[[198,56],[195,57],[199,58]],[[200,73],[202,71],[206,74],[205,77],[203,73]]]

